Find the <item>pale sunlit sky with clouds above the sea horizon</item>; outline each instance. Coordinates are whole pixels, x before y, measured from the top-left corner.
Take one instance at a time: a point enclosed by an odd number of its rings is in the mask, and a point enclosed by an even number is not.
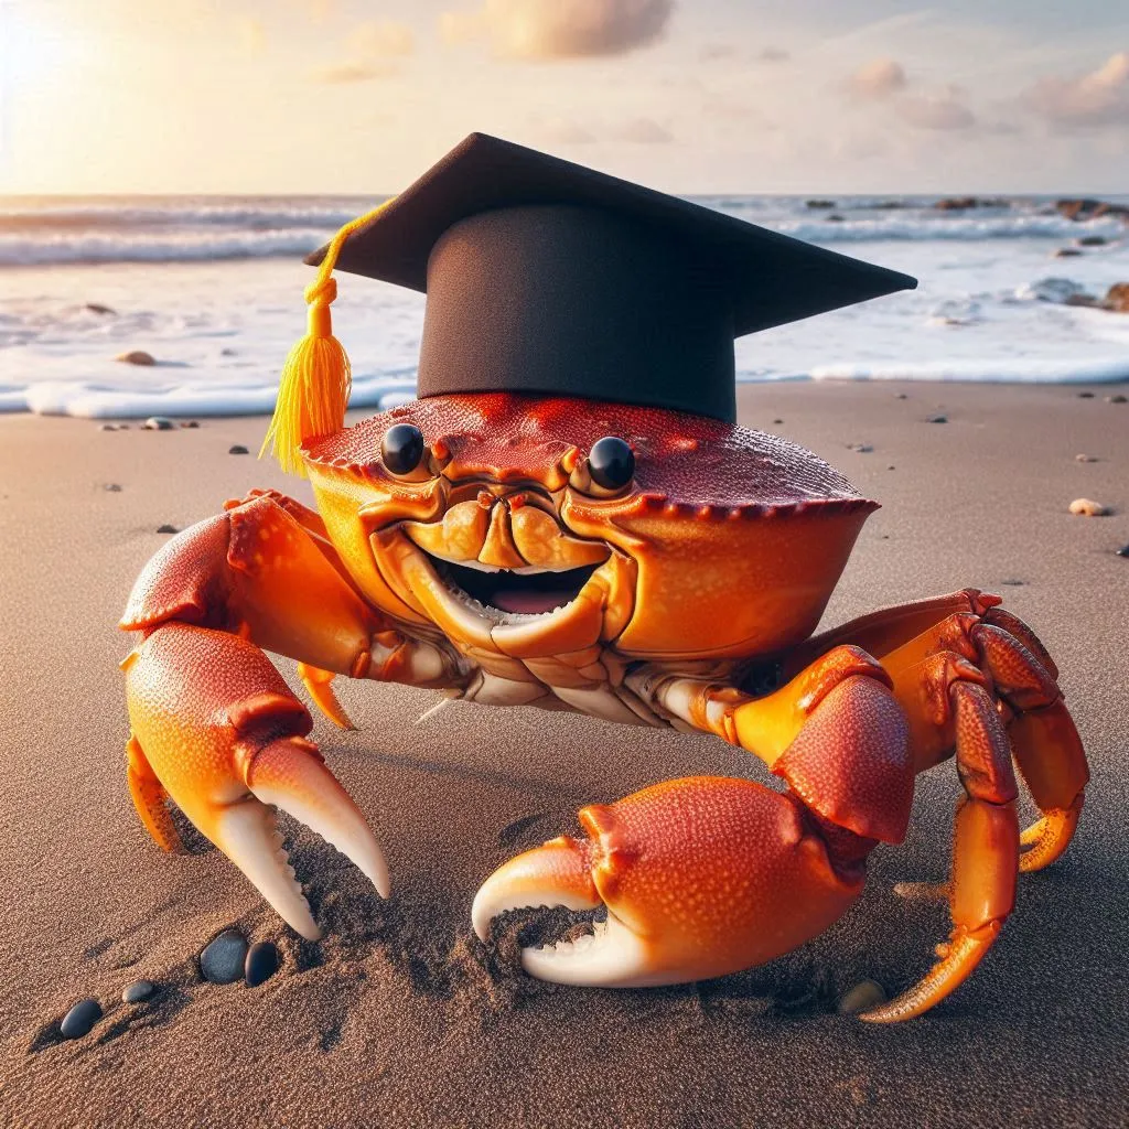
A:
[[[473,130],[681,193],[1126,193],[1129,5],[0,0],[0,193],[380,195]]]

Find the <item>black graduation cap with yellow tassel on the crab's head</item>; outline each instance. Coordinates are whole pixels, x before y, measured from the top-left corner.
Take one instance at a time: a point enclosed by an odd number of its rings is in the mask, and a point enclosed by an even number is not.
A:
[[[419,396],[527,392],[734,421],[735,338],[917,280],[472,133],[307,260],[309,333],[283,369],[265,447],[341,428],[349,361],[334,269],[427,294]]]

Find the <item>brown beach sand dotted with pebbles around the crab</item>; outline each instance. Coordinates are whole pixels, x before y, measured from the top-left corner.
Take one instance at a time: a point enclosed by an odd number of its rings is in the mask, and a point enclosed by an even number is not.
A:
[[[308,488],[228,454],[257,447],[261,419],[105,432],[0,418],[0,1123],[1123,1124],[1129,560],[1113,551],[1129,542],[1129,405],[1094,391],[741,390],[743,421],[812,447],[884,504],[826,622],[964,585],[1001,592],[1057,657],[1093,767],[1075,843],[1022,883],[979,972],[927,1017],[882,1029],[837,1015],[834,1000],[863,978],[909,984],[947,929],[942,908],[891,887],[945,873],[951,764],[919,781],[907,842],[875,852],[846,918],[788,957],[698,987],[531,981],[473,939],[470,902],[502,859],[576,830],[584,803],[701,771],[758,774],[710,738],[460,704],[417,725],[432,693],[349,685],[361,732],[320,720],[315,734],[384,844],[391,902],[290,824],[329,930],[312,945],[207,843],[163,855],[125,789],[116,663],[130,640],[115,620],[165,541],[159,525],[252,485]],[[938,412],[947,423],[925,422]],[[1071,516],[1078,497],[1113,516]],[[233,924],[283,951],[260,988],[195,971]],[[159,996],[122,1004],[139,977]],[[86,995],[106,1017],[61,1042],[59,1019]]]

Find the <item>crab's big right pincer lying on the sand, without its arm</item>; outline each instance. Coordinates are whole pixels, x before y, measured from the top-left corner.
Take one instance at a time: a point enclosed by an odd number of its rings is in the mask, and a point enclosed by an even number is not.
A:
[[[542,980],[683,983],[772,960],[825,929],[863,889],[839,873],[790,795],[692,777],[580,813],[588,840],[554,839],[496,870],[471,910],[487,939],[511,909],[607,908],[590,936],[523,948]]]

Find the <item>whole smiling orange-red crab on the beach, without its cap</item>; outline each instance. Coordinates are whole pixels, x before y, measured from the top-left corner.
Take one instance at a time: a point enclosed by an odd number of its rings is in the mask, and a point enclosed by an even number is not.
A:
[[[348,727],[338,676],[487,706],[709,733],[777,778],[668,780],[579,813],[479,889],[472,924],[563,905],[606,920],[522,949],[534,977],[644,987],[777,957],[858,898],[907,831],[914,778],[963,795],[933,968],[861,1018],[944,999],[1066,849],[1088,779],[1058,672],[997,596],[966,588],[814,634],[877,504],[776,436],[658,408],[485,393],[395,408],[303,448],[318,513],[270,490],[169,541],[122,628],[130,791],[159,846],[167,802],[299,934],[320,930],[274,808],[388,896],[365,816],[266,651]],[[1014,767],[1039,808],[1022,833]],[[594,914],[596,916],[596,914]]]

